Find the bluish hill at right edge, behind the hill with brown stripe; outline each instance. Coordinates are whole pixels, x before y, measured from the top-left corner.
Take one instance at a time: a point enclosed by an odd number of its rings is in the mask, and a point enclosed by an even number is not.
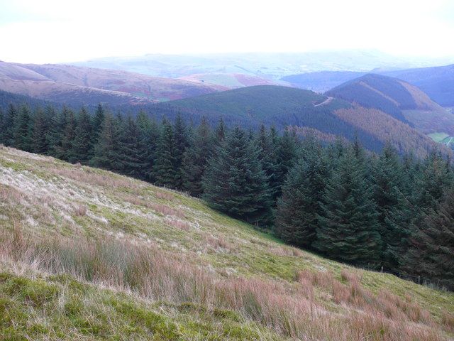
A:
[[[454,64],[383,73],[416,85],[443,107],[454,107]]]

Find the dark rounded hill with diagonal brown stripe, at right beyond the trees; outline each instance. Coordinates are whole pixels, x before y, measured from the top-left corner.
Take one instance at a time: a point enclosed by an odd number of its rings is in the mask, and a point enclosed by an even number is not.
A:
[[[454,134],[453,114],[417,87],[394,77],[367,74],[329,90],[326,95],[380,109],[424,134]]]

